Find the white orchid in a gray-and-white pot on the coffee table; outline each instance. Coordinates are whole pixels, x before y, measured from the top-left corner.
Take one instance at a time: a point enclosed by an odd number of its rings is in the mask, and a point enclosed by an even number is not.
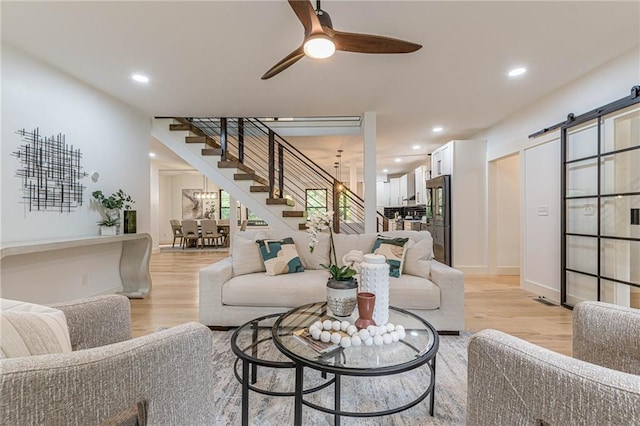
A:
[[[336,248],[333,242],[333,212],[317,213],[307,219],[307,232],[311,236],[309,251],[313,253],[318,242],[318,232],[329,230],[330,265],[320,265],[331,275],[327,280],[327,306],[336,317],[348,317],[357,304],[357,271],[348,265],[338,266]]]

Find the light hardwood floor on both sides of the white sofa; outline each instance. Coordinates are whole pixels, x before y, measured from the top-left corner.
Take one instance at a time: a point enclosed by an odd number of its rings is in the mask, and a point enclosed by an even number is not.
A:
[[[198,271],[226,252],[163,252],[151,256],[153,288],[132,299],[134,337],[187,321],[198,321]],[[542,347],[571,355],[572,311],[536,301],[519,287],[517,276],[465,276],[468,331],[494,328]]]

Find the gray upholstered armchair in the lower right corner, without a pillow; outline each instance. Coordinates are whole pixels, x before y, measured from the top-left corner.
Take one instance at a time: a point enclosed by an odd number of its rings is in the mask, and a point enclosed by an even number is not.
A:
[[[638,309],[576,305],[574,358],[496,330],[474,335],[468,354],[468,425],[640,422]]]

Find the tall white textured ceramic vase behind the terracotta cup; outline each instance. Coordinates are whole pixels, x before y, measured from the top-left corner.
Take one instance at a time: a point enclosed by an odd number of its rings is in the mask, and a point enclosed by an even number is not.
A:
[[[360,264],[360,291],[376,295],[373,320],[378,325],[389,322],[389,265],[379,254],[365,254]]]

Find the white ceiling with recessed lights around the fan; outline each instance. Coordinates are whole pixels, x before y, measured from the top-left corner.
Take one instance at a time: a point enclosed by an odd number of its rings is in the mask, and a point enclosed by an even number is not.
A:
[[[302,42],[285,0],[3,1],[2,38],[149,116],[375,111],[378,169],[389,173],[424,163],[448,140],[473,136],[640,41],[636,1],[325,0],[322,8],[338,30],[423,48],[303,58],[261,80]],[[506,78],[517,65],[527,75]],[[134,83],[133,72],[151,83]],[[445,131],[434,134],[435,125]],[[288,139],[329,171],[340,148],[343,171],[362,158],[361,135]],[[415,144],[421,149],[412,150]],[[397,156],[404,161],[395,163]],[[176,167],[167,161],[163,167]]]

